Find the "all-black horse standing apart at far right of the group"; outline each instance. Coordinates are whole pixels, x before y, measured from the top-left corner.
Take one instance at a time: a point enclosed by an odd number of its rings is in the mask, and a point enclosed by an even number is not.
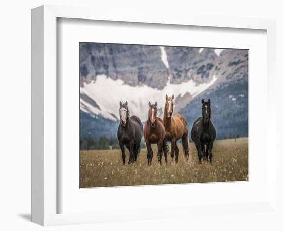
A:
[[[202,157],[204,160],[208,161],[208,156],[210,164],[212,163],[212,149],[213,142],[216,138],[216,131],[210,118],[210,99],[207,102],[202,99],[202,117],[199,117],[193,122],[191,129],[191,139],[194,141],[194,144],[198,150],[199,164],[201,164]]]

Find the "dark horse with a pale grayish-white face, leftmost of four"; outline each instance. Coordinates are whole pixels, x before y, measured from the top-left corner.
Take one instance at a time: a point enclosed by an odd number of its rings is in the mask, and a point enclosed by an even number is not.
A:
[[[125,165],[125,146],[129,150],[128,164],[135,163],[140,152],[140,142],[143,138],[143,123],[141,120],[132,115],[130,117],[128,102],[120,102],[120,124],[117,131],[119,145],[122,151],[123,165]]]

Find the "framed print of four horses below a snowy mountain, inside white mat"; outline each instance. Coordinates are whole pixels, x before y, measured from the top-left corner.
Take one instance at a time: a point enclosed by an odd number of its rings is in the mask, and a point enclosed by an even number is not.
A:
[[[80,188],[248,180],[248,50],[79,53]]]

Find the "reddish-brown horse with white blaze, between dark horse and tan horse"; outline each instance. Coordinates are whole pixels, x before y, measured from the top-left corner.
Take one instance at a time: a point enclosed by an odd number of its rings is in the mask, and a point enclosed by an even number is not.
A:
[[[151,165],[153,151],[151,144],[157,144],[158,163],[161,165],[162,152],[164,153],[165,163],[167,164],[167,155],[169,152],[168,145],[165,140],[165,128],[162,119],[157,117],[157,102],[155,104],[148,103],[148,120],[144,126],[144,138],[147,146],[147,163]]]

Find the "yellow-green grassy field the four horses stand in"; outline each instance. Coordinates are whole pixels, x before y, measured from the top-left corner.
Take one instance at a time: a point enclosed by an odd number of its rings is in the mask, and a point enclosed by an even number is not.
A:
[[[179,144],[181,145],[181,144]],[[213,147],[213,164],[198,164],[194,144],[190,144],[189,163],[186,164],[179,147],[178,164],[168,157],[165,164],[157,164],[156,147],[152,165],[147,165],[147,151],[141,149],[136,164],[122,165],[120,150],[91,150],[80,152],[80,187],[106,187],[128,185],[153,185],[175,183],[200,183],[223,181],[246,181],[247,138],[216,141]],[[126,163],[129,153],[126,152]]]

